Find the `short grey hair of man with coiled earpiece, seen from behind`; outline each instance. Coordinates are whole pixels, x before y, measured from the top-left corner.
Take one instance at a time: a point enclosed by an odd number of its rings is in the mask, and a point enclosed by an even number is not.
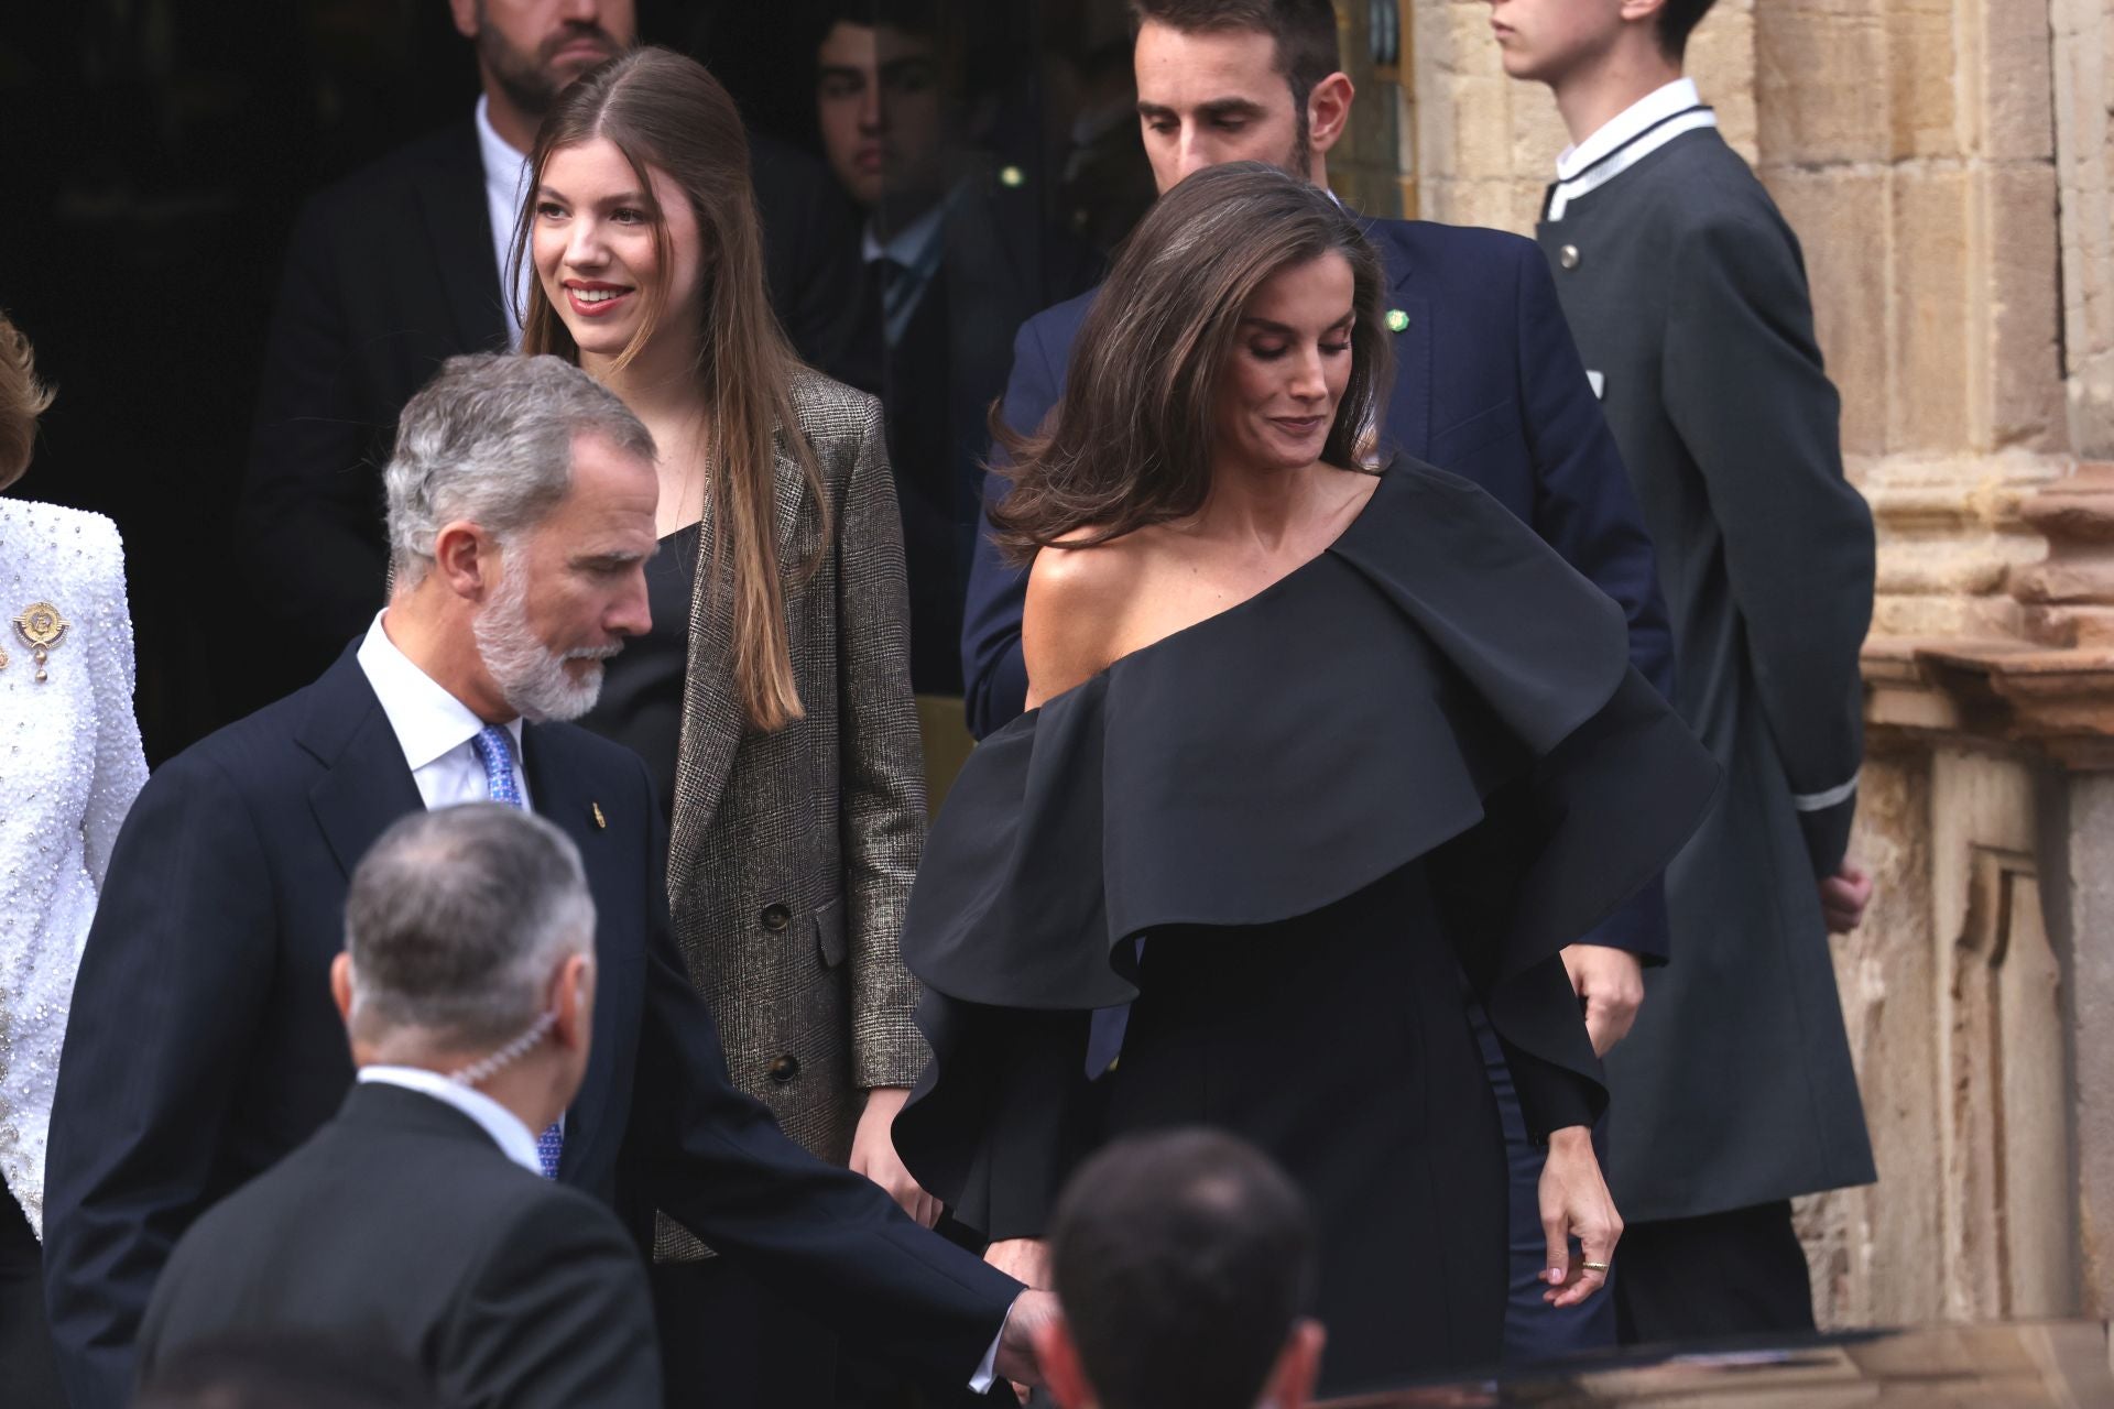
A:
[[[579,849],[503,803],[410,813],[353,868],[345,948],[361,1041],[512,1041],[543,1014],[558,965],[594,953]]]

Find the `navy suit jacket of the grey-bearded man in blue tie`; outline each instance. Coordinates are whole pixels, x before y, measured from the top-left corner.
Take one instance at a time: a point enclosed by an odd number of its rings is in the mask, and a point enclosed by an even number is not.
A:
[[[594,1050],[558,1179],[615,1206],[641,1246],[666,1208],[860,1348],[966,1384],[1017,1284],[808,1156],[729,1084],[668,929],[645,765],[571,725],[528,725],[522,767],[596,908]],[[184,1229],[336,1115],[353,1084],[328,989],[347,881],[419,807],[351,651],[171,758],[133,805],[51,1113],[44,1284],[74,1409],[129,1401],[131,1344]]]

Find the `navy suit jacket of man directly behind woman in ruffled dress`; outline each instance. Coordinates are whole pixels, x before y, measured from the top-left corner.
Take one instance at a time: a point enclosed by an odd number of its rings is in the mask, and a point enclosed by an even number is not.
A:
[[[1408,315],[1408,327],[1395,334],[1391,448],[1473,480],[1615,598],[1630,621],[1632,663],[1672,697],[1672,636],[1651,539],[1541,251],[1501,230],[1423,220],[1361,224],[1387,268],[1387,308]],[[1015,431],[1040,427],[1063,395],[1072,340],[1093,298],[1082,294],[1021,327],[1004,403]],[[1004,488],[989,475],[985,494]],[[1025,598],[1027,570],[1006,566],[989,534],[977,534],[962,676],[968,727],[979,739],[1021,714],[1027,699]],[[1664,959],[1659,887],[1581,938]]]

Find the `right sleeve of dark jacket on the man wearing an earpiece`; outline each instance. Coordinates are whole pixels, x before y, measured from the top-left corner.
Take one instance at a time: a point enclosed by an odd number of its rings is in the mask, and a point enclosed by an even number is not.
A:
[[[535,1198],[499,1229],[442,1329],[440,1388],[461,1409],[662,1403],[638,1248],[586,1196]]]

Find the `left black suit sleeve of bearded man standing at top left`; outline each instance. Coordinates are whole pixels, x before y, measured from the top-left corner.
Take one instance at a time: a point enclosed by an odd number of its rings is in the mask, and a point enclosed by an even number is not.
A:
[[[332,256],[338,232],[332,205],[311,201],[264,344],[237,511],[260,600],[319,653],[368,627],[387,579],[374,463],[385,429],[355,387],[347,289]]]

